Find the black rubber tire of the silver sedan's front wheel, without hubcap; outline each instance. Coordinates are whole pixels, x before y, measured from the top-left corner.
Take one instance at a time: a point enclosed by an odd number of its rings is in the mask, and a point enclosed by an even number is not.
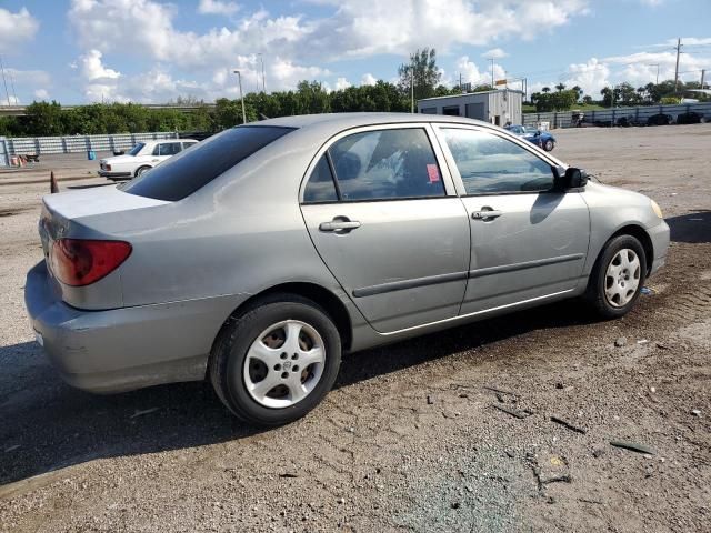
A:
[[[615,306],[608,301],[608,296],[605,295],[607,271],[610,262],[617,253],[624,249],[632,250],[639,258],[640,278],[634,295],[629,300],[629,302],[624,305]],[[603,319],[618,319],[620,316],[624,316],[634,306],[634,303],[640,296],[645,279],[647,257],[642,244],[632,235],[618,235],[610,239],[600,252],[590,274],[588,290],[584,298],[598,315]]]

